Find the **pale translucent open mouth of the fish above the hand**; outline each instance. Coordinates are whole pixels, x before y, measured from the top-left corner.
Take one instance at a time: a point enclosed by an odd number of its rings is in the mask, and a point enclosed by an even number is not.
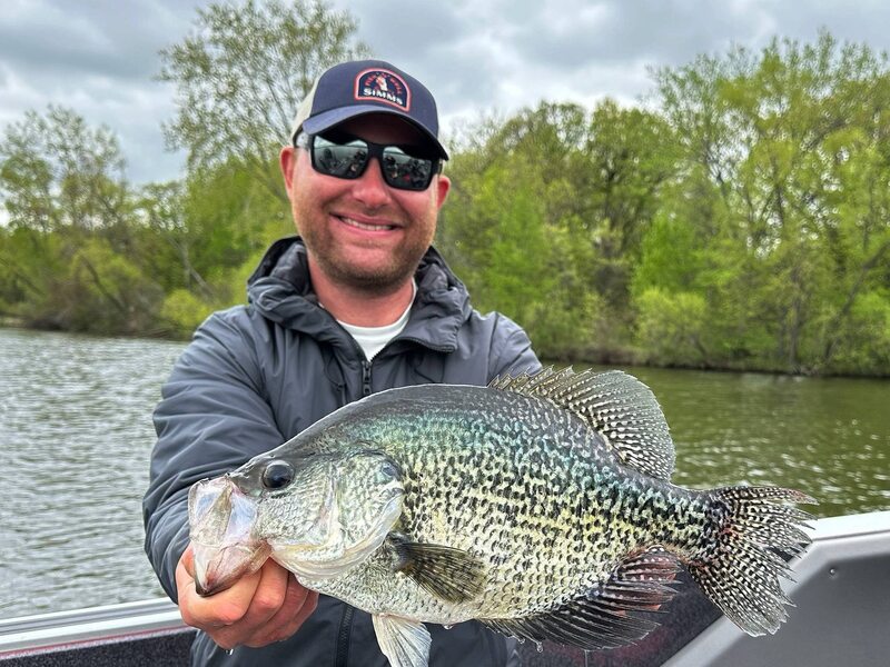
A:
[[[195,590],[209,596],[258,570],[271,551],[253,536],[256,501],[227,477],[197,482],[188,496]]]

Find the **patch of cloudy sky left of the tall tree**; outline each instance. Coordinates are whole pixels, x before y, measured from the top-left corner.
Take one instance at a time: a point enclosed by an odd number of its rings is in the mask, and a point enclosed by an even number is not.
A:
[[[0,122],[47,106],[75,109],[120,139],[129,178],[175,178],[181,155],[164,150],[169,87],[155,81],[158,51],[182,39],[200,2],[11,0],[0,9]]]

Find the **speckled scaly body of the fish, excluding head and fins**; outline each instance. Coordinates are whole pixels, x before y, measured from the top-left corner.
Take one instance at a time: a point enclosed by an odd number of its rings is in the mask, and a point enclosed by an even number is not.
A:
[[[403,470],[396,529],[418,544],[484,554],[487,566],[479,594],[458,604],[394,575],[386,550],[343,577],[306,578],[372,613],[453,624],[541,611],[605,580],[642,545],[661,544],[666,526],[644,516],[655,506],[669,519],[686,515],[672,521],[686,531],[672,541],[694,540],[704,524],[694,494],[622,470],[595,431],[540,400],[427,385],[349,412],[326,437],[373,442]]]

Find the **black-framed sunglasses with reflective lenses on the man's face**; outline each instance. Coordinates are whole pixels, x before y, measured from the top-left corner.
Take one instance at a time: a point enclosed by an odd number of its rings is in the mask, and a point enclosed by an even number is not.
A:
[[[346,133],[300,132],[294,146],[309,151],[313,169],[334,178],[358,178],[370,158],[377,158],[383,180],[398,190],[426,190],[433,177],[442,171],[439,159],[423,157],[423,149],[416,146],[384,146]]]

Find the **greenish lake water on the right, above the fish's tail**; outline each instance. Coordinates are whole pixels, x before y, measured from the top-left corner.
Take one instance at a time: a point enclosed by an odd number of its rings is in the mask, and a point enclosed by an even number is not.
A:
[[[626,370],[662,404],[675,484],[797,488],[820,517],[890,509],[890,380]]]

